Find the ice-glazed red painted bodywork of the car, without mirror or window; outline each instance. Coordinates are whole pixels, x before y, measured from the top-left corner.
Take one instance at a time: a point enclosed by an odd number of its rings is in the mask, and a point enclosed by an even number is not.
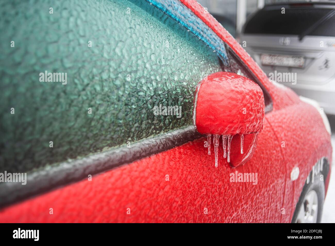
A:
[[[248,162],[233,168],[220,154],[218,161],[223,164],[215,168],[214,156],[205,151],[204,137],[95,175],[92,181],[69,184],[2,209],[0,222],[291,221],[312,166],[322,157],[331,163],[330,135],[320,113],[301,102],[290,89],[271,84],[200,4],[194,0],[181,2],[242,58],[271,95],[273,111],[265,114],[263,131]],[[240,151],[234,139],[231,145],[232,151]],[[300,174],[291,181],[290,172],[295,167]],[[236,171],[258,173],[257,185],[229,182],[229,174]]]

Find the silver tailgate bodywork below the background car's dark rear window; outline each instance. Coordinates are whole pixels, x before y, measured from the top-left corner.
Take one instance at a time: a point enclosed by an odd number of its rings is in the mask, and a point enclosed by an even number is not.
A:
[[[283,38],[289,40],[288,44],[280,43]],[[247,42],[245,48],[258,64],[261,64],[262,53],[298,55],[306,58],[304,68],[260,65],[266,74],[273,70],[299,73],[297,84],[302,85],[325,85],[335,79],[335,71],[331,69],[335,63],[334,37],[305,36],[300,41],[297,35],[244,34],[241,40]],[[329,67],[325,67],[325,59],[328,59]]]

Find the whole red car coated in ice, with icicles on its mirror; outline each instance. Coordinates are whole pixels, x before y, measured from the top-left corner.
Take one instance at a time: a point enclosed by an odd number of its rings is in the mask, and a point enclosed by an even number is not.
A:
[[[327,118],[196,1],[10,2],[0,222],[320,222]]]

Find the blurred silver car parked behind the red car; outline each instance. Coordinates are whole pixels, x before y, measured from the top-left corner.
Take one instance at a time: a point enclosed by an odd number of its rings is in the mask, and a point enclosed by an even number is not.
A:
[[[271,80],[335,115],[335,2],[266,5],[250,16],[241,45]]]

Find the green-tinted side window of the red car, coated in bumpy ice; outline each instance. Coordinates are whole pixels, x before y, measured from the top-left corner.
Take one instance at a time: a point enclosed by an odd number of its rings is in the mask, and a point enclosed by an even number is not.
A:
[[[0,172],[191,125],[197,83],[221,71],[215,52],[146,1],[6,0],[1,15]],[[154,115],[159,105],[181,114]]]

